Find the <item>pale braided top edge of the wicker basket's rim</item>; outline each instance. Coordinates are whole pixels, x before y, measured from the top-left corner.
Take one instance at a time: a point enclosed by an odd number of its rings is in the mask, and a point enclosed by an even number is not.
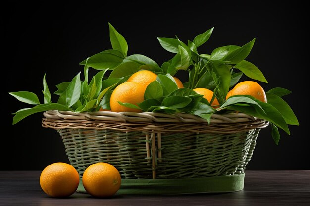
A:
[[[115,122],[155,122],[155,123],[207,123],[207,120],[192,114],[177,113],[155,113],[155,112],[112,112],[112,111],[97,111],[97,112],[71,112],[48,110],[43,113],[44,117],[58,120],[101,120]],[[243,123],[259,120],[256,117],[244,113],[228,113],[228,114],[213,114],[210,119],[210,124],[218,123]]]

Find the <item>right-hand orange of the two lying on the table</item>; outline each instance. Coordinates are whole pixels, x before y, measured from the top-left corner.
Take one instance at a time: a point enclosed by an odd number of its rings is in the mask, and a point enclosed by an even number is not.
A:
[[[109,197],[120,188],[121,178],[113,165],[95,163],[86,168],[82,182],[86,192],[92,196]]]

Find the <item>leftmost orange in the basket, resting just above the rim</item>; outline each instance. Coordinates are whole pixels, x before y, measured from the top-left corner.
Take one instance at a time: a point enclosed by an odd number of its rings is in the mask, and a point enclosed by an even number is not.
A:
[[[137,105],[144,100],[145,89],[145,86],[136,82],[124,82],[119,84],[110,97],[111,110],[113,112],[142,112],[139,109],[122,106],[118,101]]]

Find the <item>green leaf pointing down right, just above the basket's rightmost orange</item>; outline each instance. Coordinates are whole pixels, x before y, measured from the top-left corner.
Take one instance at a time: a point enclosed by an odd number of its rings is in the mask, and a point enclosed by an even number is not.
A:
[[[268,83],[262,72],[251,62],[242,60],[234,66],[251,79]]]

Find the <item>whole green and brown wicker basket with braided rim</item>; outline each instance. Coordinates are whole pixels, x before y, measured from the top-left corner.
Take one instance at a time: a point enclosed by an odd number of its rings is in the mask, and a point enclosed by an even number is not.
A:
[[[94,163],[115,166],[118,194],[233,192],[244,187],[265,120],[213,114],[210,124],[190,114],[74,113],[50,110],[42,126],[56,129],[82,177]],[[78,192],[85,192],[82,183]]]

